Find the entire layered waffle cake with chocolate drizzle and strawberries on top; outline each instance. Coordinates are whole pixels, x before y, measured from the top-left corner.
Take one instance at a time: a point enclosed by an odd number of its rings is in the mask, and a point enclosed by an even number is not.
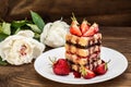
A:
[[[91,25],[87,21],[79,24],[75,17],[72,17],[70,33],[66,36],[66,59],[70,63],[72,71],[80,72],[84,66],[94,71],[99,64],[102,47],[102,34],[98,24]]]

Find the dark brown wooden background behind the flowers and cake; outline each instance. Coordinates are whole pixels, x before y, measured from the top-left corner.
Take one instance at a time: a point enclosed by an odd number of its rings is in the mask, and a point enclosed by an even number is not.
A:
[[[100,26],[131,26],[131,0],[0,0],[0,18],[7,22],[31,18],[29,10],[44,21],[60,20],[70,24],[72,12],[81,22]]]

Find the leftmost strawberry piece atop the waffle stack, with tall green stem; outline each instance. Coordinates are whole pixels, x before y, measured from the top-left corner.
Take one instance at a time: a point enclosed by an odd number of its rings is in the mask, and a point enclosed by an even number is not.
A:
[[[72,18],[72,23],[71,23],[71,26],[70,26],[70,33],[73,34],[73,35],[76,35],[76,36],[81,36],[82,33],[80,30],[80,26],[79,26],[79,23],[74,16],[74,14],[72,14],[73,17]]]

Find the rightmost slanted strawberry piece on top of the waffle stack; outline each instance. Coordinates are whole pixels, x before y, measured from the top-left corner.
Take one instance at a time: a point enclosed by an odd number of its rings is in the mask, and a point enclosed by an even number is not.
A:
[[[83,36],[93,36],[98,32],[98,25],[94,23]]]

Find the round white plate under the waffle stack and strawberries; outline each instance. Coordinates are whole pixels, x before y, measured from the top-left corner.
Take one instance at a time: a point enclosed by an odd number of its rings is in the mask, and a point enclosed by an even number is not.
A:
[[[100,83],[115,78],[120,74],[122,74],[128,67],[128,61],[122,53],[112,50],[110,48],[102,47],[102,52],[100,52],[102,59],[105,61],[111,60],[108,63],[108,72],[105,75],[96,76],[92,79],[74,78],[72,73],[68,76],[55,75],[48,58],[49,57],[64,58],[64,51],[66,51],[64,47],[61,47],[44,52],[41,55],[39,55],[36,59],[34,63],[36,72],[48,79],[59,83],[94,84],[94,83]]]

